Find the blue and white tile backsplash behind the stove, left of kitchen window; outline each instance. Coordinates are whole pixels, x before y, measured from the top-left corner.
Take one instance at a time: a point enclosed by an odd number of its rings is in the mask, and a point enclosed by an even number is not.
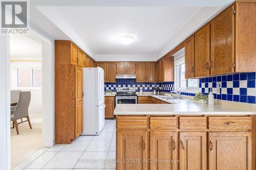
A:
[[[138,83],[135,79],[117,79],[116,83],[105,83],[105,90],[110,89],[116,91],[117,87],[144,87],[143,91],[152,92],[152,87],[159,87],[161,91],[170,92],[174,90],[174,82],[164,82],[164,83],[152,83],[152,82],[143,82]]]

